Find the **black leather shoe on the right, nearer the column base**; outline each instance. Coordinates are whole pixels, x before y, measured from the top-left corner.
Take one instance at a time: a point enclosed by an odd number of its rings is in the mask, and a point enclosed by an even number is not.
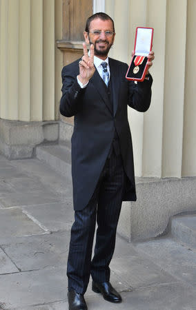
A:
[[[121,302],[120,294],[112,287],[110,282],[94,282],[92,281],[92,291],[101,293],[105,300],[109,302]]]

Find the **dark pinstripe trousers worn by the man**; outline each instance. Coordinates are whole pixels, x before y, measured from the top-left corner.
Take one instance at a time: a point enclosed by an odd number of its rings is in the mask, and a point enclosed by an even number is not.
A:
[[[84,294],[90,274],[95,282],[110,279],[110,260],[115,250],[117,223],[125,187],[121,155],[110,154],[88,205],[75,211],[68,255],[68,290]],[[92,243],[97,219],[95,252]]]

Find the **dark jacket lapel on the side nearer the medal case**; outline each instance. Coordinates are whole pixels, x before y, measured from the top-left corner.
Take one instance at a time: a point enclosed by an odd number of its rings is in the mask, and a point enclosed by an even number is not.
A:
[[[119,79],[118,79],[118,72],[117,72],[117,65],[115,65],[114,59],[109,58],[109,65],[110,65],[110,76],[111,78],[111,87],[112,87],[112,101],[113,101],[113,110],[114,116],[117,112],[118,107],[118,96],[119,96]]]

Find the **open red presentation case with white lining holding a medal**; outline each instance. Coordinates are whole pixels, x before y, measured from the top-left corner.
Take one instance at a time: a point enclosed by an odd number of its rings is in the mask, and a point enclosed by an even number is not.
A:
[[[153,28],[137,27],[134,54],[126,72],[126,79],[143,82],[148,70],[148,54],[153,46]]]

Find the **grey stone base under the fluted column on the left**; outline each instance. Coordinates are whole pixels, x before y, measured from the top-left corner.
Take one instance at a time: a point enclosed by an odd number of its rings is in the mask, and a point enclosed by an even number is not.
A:
[[[0,152],[8,159],[30,158],[37,145],[57,143],[59,121],[21,122],[0,119]]]

